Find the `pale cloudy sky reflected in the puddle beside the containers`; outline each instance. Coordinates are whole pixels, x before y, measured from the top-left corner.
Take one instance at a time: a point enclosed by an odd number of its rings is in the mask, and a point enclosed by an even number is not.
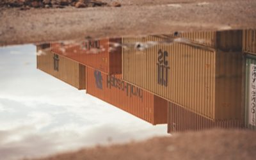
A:
[[[0,48],[0,159],[168,135],[36,69],[35,45]]]

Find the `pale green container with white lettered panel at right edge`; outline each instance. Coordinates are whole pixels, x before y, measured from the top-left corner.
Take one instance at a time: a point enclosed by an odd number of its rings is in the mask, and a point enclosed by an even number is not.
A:
[[[256,56],[246,54],[245,75],[244,121],[246,127],[256,129]]]

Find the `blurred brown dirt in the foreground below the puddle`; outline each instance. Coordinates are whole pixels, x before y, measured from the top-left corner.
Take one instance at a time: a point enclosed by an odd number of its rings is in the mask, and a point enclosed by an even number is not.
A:
[[[37,160],[255,159],[255,131],[212,129],[110,147],[83,148]]]

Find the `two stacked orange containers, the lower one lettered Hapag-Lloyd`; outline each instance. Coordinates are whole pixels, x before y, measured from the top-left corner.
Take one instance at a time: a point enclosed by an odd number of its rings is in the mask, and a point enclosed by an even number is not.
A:
[[[86,93],[150,124],[166,124],[167,100],[122,80],[122,48],[114,47],[120,45],[121,40],[106,38],[79,45],[52,43],[47,60],[54,61],[54,55],[58,55],[83,65],[86,67]]]

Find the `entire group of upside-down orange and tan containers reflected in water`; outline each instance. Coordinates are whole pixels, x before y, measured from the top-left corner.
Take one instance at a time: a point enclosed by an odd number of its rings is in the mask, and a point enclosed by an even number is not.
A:
[[[255,39],[248,29],[52,43],[37,66],[170,133],[255,129]]]

